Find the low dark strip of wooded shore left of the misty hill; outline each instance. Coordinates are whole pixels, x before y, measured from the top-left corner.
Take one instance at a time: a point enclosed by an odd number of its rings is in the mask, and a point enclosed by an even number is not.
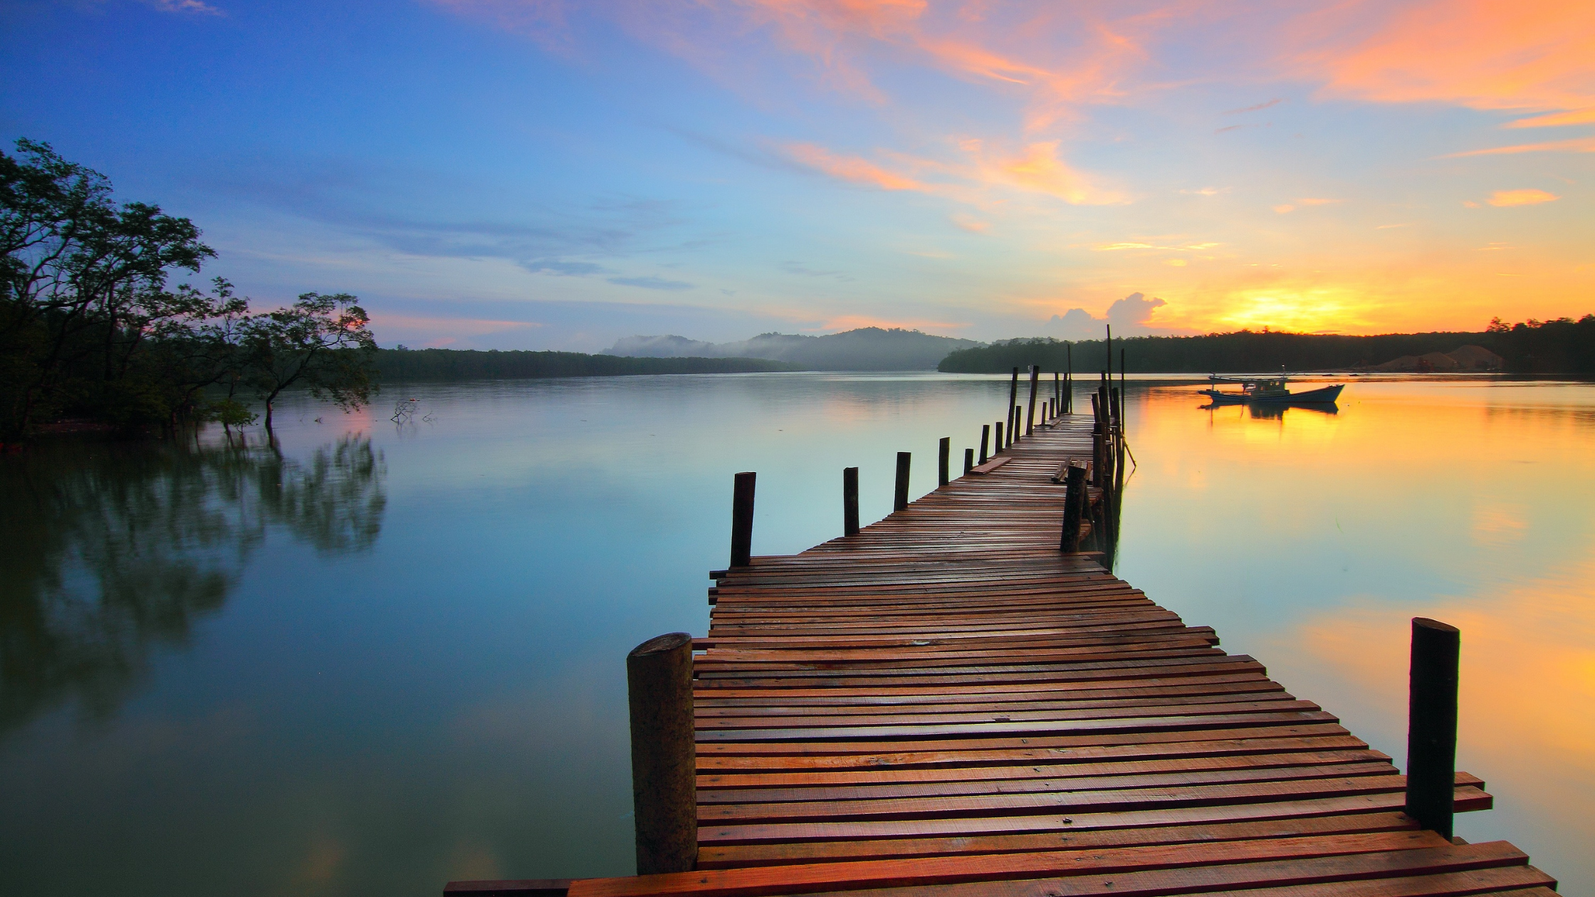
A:
[[[396,380],[617,377],[638,373],[756,373],[799,370],[762,358],[616,358],[612,354],[498,350],[378,350],[376,372]]]

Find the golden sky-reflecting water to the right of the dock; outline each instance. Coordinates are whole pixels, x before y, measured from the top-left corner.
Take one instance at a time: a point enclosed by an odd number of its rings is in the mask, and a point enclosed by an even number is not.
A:
[[[1118,573],[1405,763],[1407,621],[1463,630],[1458,817],[1595,894],[1595,388],[1353,381],[1338,413],[1131,418]]]

